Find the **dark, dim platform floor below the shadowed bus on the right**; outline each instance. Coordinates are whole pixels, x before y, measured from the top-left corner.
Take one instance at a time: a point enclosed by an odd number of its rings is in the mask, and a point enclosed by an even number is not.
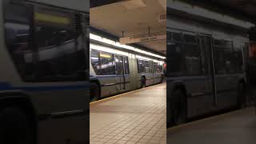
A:
[[[256,142],[254,107],[174,126],[167,130],[171,144],[254,144]]]

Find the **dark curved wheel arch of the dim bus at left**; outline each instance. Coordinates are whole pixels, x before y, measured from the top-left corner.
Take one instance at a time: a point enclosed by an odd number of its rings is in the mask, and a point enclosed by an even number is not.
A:
[[[2,95],[2,94],[1,94]],[[0,95],[0,96],[1,96]],[[30,118],[31,124],[34,129],[34,143],[37,143],[38,139],[38,118],[37,112],[34,109],[34,106],[29,98],[27,98],[24,94],[6,94],[0,99],[0,110],[6,107],[16,107]]]

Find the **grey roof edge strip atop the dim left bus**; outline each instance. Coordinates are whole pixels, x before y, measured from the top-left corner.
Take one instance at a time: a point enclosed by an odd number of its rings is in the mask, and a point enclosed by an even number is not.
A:
[[[46,5],[64,7],[66,9],[78,10],[89,13],[90,1],[88,0],[30,0],[30,2],[38,2]]]

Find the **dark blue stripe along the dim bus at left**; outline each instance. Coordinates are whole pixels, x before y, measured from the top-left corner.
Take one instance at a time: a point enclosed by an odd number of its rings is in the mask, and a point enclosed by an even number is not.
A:
[[[89,89],[90,85],[70,85],[70,86],[11,86],[7,82],[0,82],[0,90],[26,90],[26,91],[43,91],[43,90],[79,90]]]

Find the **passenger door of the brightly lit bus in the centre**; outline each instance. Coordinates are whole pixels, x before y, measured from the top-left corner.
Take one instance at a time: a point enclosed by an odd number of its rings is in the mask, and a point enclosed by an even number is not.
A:
[[[123,56],[115,55],[114,56],[116,66],[117,66],[117,77],[116,77],[116,86],[118,93],[126,90],[126,79],[124,74],[124,58]]]

